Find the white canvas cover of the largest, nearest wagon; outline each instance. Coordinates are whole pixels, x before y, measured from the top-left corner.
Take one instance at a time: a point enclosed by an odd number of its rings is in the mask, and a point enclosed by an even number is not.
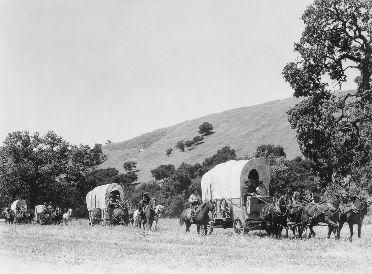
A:
[[[230,160],[218,164],[203,175],[201,182],[203,201],[210,198],[221,199],[222,197],[240,198],[244,195],[244,182],[250,179],[248,176],[252,170],[257,171],[257,173],[254,172],[256,175],[258,174],[256,182],[263,181],[266,189],[269,189],[269,167],[263,160],[258,158],[240,161]]]

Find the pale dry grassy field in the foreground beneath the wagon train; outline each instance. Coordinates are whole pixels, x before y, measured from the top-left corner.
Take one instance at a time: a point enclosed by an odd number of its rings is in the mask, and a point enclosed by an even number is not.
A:
[[[185,233],[177,219],[161,219],[158,232],[133,227],[94,226],[73,220],[72,226],[0,223],[2,273],[371,273],[372,217],[366,216],[362,238],[327,239],[327,227],[315,227],[316,238],[277,240],[255,231],[235,235],[215,229],[199,236]]]

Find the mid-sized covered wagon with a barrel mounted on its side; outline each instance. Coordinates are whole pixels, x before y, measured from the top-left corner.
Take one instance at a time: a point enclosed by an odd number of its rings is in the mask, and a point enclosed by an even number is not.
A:
[[[88,192],[86,201],[89,211],[88,223],[90,226],[94,224],[105,226],[106,223],[113,223],[113,208],[109,207],[110,194],[114,196],[120,195],[120,198],[124,201],[124,189],[116,183],[97,186]]]

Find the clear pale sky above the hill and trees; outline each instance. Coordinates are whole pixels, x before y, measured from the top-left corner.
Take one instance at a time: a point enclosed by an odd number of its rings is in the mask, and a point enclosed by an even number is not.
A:
[[[92,147],[291,97],[311,2],[0,0],[0,142],[53,130]]]

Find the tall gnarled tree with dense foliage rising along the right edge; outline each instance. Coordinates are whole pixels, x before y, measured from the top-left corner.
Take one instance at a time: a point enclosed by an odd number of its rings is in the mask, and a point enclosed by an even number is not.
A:
[[[346,177],[366,180],[361,172],[371,166],[371,11],[370,0],[315,0],[302,15],[298,60],[283,69],[293,95],[305,97],[287,114],[323,187]],[[349,70],[359,74],[357,90],[336,95],[324,76],[341,89]]]

